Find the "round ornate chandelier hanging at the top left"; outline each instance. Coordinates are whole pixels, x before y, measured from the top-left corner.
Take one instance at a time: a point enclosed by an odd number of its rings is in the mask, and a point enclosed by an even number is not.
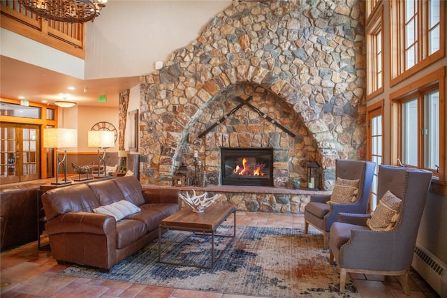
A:
[[[93,21],[107,0],[19,0],[19,2],[47,20],[66,23]]]

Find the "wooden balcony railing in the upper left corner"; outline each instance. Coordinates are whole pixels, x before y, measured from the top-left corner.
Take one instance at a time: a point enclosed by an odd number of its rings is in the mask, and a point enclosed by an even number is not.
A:
[[[17,0],[0,0],[0,25],[80,59],[85,59],[85,24],[45,20]]]

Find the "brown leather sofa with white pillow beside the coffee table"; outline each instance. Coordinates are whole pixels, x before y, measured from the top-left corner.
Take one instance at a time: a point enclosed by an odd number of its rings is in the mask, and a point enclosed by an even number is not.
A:
[[[108,271],[158,237],[163,218],[179,210],[178,190],[142,190],[133,176],[52,189],[42,195],[52,256]],[[120,221],[93,209],[127,200],[141,211]]]

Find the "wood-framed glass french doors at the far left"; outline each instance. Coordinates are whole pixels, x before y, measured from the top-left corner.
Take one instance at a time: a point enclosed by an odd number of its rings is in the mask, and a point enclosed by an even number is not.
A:
[[[39,179],[40,126],[0,124],[0,184]]]

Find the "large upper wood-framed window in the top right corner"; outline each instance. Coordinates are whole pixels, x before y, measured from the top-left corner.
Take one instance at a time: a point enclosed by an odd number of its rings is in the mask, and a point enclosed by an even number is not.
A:
[[[393,0],[391,47],[393,84],[444,57],[445,2]]]

